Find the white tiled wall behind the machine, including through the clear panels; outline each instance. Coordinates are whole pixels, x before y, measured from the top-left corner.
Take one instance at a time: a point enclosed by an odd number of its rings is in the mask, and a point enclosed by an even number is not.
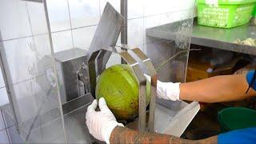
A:
[[[191,18],[194,13],[194,0],[127,1],[128,45],[139,46],[144,51],[145,44],[150,42],[146,40],[146,29]],[[120,0],[47,0],[54,52],[74,47],[88,50],[106,2],[120,11]],[[0,19],[0,50],[4,50],[11,73],[20,119],[34,117],[42,102],[52,105],[44,105],[45,111],[58,107],[58,100],[54,99],[56,90],[50,91],[51,98],[45,101],[48,90],[39,86],[40,81],[46,79],[42,75],[47,67],[44,62],[50,61],[43,58],[51,54],[43,5],[0,0]],[[120,44],[120,37],[117,44]],[[116,63],[120,63],[120,58],[112,55],[107,66]],[[53,66],[51,61],[48,64]],[[0,96],[0,106],[8,103],[2,72]]]

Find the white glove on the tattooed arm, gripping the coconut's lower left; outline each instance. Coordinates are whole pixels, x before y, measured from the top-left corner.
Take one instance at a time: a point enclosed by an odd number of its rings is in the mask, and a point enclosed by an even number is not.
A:
[[[95,111],[99,107],[100,111]],[[123,126],[122,123],[118,123],[114,114],[106,106],[104,98],[94,100],[87,108],[86,112],[86,125],[90,134],[100,141],[110,143],[110,134],[114,130],[115,126]]]

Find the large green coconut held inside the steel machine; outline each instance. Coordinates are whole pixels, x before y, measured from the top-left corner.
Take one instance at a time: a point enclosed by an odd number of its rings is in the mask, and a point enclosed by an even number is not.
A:
[[[150,102],[150,84],[146,83],[146,105]],[[96,98],[105,98],[107,106],[118,119],[138,115],[138,82],[128,65],[110,66],[102,72],[96,86]]]

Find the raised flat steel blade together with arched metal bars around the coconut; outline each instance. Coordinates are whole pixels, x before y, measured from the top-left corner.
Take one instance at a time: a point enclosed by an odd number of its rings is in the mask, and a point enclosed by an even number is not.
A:
[[[126,45],[116,46],[118,35],[121,32],[122,22],[122,15],[118,14],[118,12],[114,10],[114,7],[107,2],[89,49],[90,57],[88,60],[88,68],[90,75],[90,94],[95,98],[95,87],[98,75],[106,69],[106,63],[108,62],[110,55],[118,54],[132,68],[134,75],[138,80],[138,130],[150,130],[153,132],[157,72],[154,69],[150,58],[147,58],[146,54],[144,54],[138,47],[130,47]],[[142,70],[140,63],[146,67],[146,71]],[[152,81],[155,81],[151,82],[150,86],[150,115],[147,125],[148,128],[146,128],[146,78],[144,74],[149,74]]]

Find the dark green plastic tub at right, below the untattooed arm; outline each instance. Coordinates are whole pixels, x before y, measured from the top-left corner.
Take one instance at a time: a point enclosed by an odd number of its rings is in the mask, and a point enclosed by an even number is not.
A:
[[[256,110],[229,107],[218,112],[222,132],[256,126]]]

